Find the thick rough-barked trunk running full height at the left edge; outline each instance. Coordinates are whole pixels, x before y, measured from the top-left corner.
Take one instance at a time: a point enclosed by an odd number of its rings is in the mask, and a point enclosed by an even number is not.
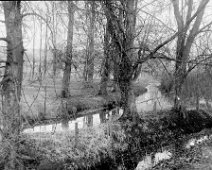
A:
[[[23,77],[23,39],[20,1],[2,2],[7,33],[7,63],[3,85],[3,146],[7,157],[5,170],[16,170],[20,134],[20,98]]]

